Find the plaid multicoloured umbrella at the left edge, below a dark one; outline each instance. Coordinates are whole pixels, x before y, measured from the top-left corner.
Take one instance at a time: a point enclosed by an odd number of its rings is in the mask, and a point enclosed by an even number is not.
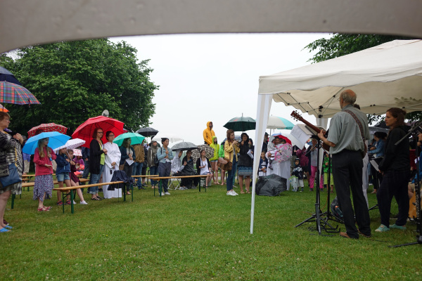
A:
[[[0,81],[0,103],[14,103],[16,105],[41,104],[25,87],[6,81]]]

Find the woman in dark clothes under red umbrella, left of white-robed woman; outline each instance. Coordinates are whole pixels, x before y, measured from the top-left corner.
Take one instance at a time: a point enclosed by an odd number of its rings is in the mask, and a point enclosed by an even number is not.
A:
[[[89,173],[91,173],[91,184],[99,183],[101,174],[103,174],[104,163],[106,162],[106,148],[103,148],[104,131],[101,128],[94,129],[92,133],[92,141],[89,144]],[[91,200],[103,200],[98,196],[98,186],[88,188],[91,194]]]

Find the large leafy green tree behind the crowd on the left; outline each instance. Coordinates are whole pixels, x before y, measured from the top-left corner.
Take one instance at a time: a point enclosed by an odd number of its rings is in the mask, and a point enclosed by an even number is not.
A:
[[[129,131],[148,126],[155,112],[148,60],[138,63],[136,49],[108,39],[70,41],[18,49],[0,65],[15,74],[41,105],[7,105],[16,131],[54,122],[75,130],[101,115],[124,122]]]

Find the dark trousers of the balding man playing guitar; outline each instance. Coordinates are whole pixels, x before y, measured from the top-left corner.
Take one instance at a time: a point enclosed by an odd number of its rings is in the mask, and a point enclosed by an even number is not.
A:
[[[337,192],[340,209],[343,212],[347,235],[352,238],[359,238],[357,228],[354,225],[355,216],[359,230],[364,235],[371,235],[371,219],[362,190],[363,165],[359,151],[343,150],[333,155],[335,191]],[[352,190],[354,211],[352,200],[350,200],[350,190]]]

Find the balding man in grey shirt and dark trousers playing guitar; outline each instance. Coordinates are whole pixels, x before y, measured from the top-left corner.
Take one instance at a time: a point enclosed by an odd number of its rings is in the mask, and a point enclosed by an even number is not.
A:
[[[359,239],[359,235],[371,237],[371,220],[362,190],[364,138],[370,138],[368,119],[362,111],[353,107],[356,101],[354,91],[343,91],[338,100],[342,110],[331,119],[328,138],[324,137],[325,131],[318,136],[330,146],[333,155],[334,185],[346,227],[346,232],[340,233],[340,236],[353,239]],[[359,229],[354,224],[355,217]]]

